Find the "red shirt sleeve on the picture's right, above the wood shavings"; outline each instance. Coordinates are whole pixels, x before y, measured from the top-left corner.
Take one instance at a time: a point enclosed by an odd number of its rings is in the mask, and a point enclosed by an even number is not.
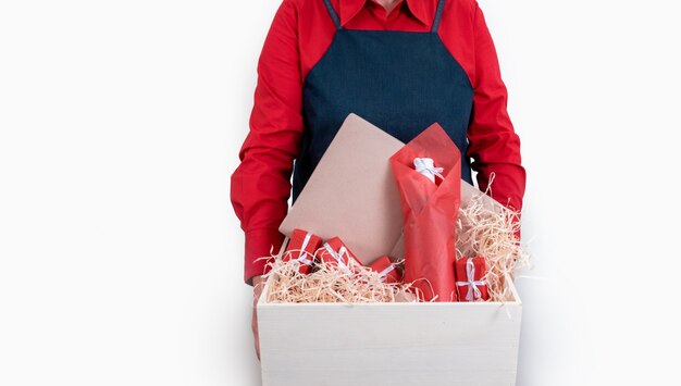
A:
[[[507,111],[507,91],[494,42],[482,10],[475,4],[473,16],[475,78],[473,115],[468,129],[467,155],[478,172],[478,185],[486,190],[494,173],[491,196],[502,204],[522,209],[525,170],[521,165],[520,138]],[[520,237],[520,234],[517,235]]]

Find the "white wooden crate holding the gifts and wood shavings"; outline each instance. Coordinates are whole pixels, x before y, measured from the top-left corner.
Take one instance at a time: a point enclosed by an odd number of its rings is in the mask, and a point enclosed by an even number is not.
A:
[[[522,303],[511,289],[504,303],[270,303],[265,284],[262,385],[512,386]]]

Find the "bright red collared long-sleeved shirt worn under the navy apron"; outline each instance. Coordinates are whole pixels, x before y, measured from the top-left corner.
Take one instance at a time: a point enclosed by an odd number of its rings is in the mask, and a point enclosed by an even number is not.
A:
[[[437,0],[398,0],[386,15],[375,0],[331,0],[347,29],[429,32]],[[294,159],[304,130],[302,82],[331,45],[336,27],[322,0],[283,0],[258,61],[258,84],[250,132],[232,175],[232,204],[246,234],[244,279],[264,272],[284,236],[277,231],[288,210]],[[467,155],[485,190],[520,211],[525,171],[520,140],[506,109],[494,42],[474,0],[447,0],[438,29],[445,47],[463,67],[474,88]],[[399,59],[396,59],[399,60]]]

